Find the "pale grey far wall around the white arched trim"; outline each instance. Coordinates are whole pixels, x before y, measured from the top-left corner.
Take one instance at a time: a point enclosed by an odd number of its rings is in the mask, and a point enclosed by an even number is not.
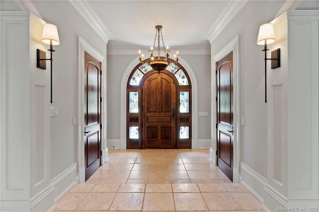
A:
[[[198,84],[198,111],[208,112],[208,116],[198,117],[198,139],[210,140],[210,56],[182,55],[181,57],[195,72]],[[108,141],[118,143],[120,140],[120,85],[124,71],[137,55],[108,55],[107,90],[108,90]],[[139,61],[136,61],[138,65]],[[187,70],[186,70],[187,71]],[[113,147],[113,142],[108,144]],[[115,144],[116,145],[116,144]]]

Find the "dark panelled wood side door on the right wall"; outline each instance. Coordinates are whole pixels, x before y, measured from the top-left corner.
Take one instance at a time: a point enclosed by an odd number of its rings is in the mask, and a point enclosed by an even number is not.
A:
[[[216,63],[217,165],[233,181],[233,53]]]

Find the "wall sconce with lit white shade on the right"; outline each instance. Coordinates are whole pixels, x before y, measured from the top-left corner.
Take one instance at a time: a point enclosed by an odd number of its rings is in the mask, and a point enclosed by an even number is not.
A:
[[[275,40],[275,33],[274,27],[271,23],[265,23],[260,26],[257,44],[258,45],[265,45],[265,49],[262,51],[265,52],[265,103],[267,103],[267,60],[272,60],[271,69],[276,69],[280,67],[280,49],[276,49],[275,51],[271,52],[272,58],[267,58],[267,44],[274,43]]]

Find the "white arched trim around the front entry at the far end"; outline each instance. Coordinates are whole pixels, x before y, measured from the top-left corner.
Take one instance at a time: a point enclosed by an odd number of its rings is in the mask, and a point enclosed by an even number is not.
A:
[[[120,110],[120,142],[121,149],[126,149],[126,86],[128,83],[129,76],[133,69],[138,65],[139,58],[134,59],[130,65],[126,68],[123,73],[121,80],[121,110]],[[191,102],[191,117],[192,117],[192,138],[191,138],[191,148],[198,148],[198,84],[195,72],[189,66],[189,64],[182,59],[179,58],[179,64],[184,67],[187,71],[190,81],[191,81],[191,93],[192,93],[192,102]]]

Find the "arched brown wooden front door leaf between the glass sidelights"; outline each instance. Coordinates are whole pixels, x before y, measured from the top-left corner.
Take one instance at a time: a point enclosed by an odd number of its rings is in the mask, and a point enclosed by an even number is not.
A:
[[[176,85],[174,80],[166,73],[153,72],[145,79],[142,93],[144,148],[175,148]]]

